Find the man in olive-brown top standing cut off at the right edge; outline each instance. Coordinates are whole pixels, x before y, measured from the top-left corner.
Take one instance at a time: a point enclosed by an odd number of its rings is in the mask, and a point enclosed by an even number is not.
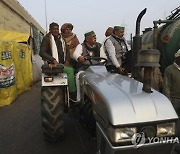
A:
[[[174,63],[165,69],[163,83],[164,94],[171,100],[180,117],[180,49],[175,53]],[[180,120],[177,127],[180,137]]]

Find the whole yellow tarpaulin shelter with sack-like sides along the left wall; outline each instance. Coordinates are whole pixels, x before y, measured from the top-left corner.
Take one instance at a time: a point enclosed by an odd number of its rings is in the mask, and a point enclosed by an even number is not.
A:
[[[0,106],[11,104],[33,83],[29,34],[0,30]]]

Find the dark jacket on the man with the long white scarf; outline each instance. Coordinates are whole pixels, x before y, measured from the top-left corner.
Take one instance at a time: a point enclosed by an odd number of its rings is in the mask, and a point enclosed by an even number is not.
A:
[[[69,50],[61,35],[59,35],[59,38],[55,40],[55,42],[58,50],[59,63],[64,64],[65,61],[70,61]],[[48,61],[49,63],[53,63],[55,60],[55,58],[52,57],[50,33],[46,34],[46,36],[43,38],[39,55],[43,60]]]

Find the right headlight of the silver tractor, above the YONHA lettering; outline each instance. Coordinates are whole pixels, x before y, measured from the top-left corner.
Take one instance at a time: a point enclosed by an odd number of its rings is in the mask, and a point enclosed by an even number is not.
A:
[[[165,123],[165,124],[158,124],[157,125],[157,136],[173,136],[175,135],[175,122],[172,123]]]

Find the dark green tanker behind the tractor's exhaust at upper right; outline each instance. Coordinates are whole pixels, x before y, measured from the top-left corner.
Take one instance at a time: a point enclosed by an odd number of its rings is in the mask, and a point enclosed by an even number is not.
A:
[[[180,48],[180,6],[166,20],[153,21],[154,29],[147,28],[142,35],[142,49],[158,49],[161,53],[162,72],[174,62],[174,54]],[[158,27],[158,25],[163,26]]]

